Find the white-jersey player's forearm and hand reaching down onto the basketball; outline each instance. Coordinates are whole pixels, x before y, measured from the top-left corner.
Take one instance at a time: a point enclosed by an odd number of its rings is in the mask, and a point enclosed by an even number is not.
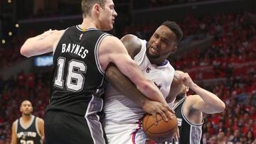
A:
[[[171,118],[172,111],[167,104],[162,104],[157,101],[151,101],[149,98],[144,96],[142,92],[134,86],[134,84],[122,74],[113,63],[107,66],[106,70],[107,82],[110,82],[114,89],[117,89],[121,94],[124,94],[128,99],[134,101],[138,106],[141,106],[143,111],[150,113],[154,116],[156,122],[156,113],[161,114],[161,116],[167,121],[166,115]],[[173,111],[172,111],[173,112]]]

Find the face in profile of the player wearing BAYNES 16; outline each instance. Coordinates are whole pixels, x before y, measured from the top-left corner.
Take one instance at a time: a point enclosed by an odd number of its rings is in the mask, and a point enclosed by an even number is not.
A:
[[[112,0],[106,0],[105,7],[100,9],[101,11],[99,20],[102,26],[102,30],[112,30],[114,18],[117,16],[117,12],[114,10],[114,2]]]

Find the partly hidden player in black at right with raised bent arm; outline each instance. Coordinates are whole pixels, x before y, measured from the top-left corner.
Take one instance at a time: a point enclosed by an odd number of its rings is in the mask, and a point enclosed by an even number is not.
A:
[[[176,70],[176,74],[179,74],[183,87],[174,101],[180,138],[177,142],[173,140],[172,144],[201,143],[203,113],[220,113],[225,109],[225,104],[218,96],[195,84],[188,73]],[[188,89],[192,89],[196,95],[186,96]]]

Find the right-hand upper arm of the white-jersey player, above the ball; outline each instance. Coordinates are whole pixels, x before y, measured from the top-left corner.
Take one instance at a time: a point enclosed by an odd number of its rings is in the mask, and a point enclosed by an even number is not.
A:
[[[169,95],[166,97],[167,103],[172,103],[176,99],[176,96],[181,92],[182,79],[178,73],[174,72],[174,79],[171,82],[171,89]]]

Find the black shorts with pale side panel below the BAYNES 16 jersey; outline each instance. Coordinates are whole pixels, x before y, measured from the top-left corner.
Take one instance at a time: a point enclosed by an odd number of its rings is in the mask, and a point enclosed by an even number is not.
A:
[[[46,144],[104,144],[107,143],[98,116],[77,116],[48,111],[45,117]]]

